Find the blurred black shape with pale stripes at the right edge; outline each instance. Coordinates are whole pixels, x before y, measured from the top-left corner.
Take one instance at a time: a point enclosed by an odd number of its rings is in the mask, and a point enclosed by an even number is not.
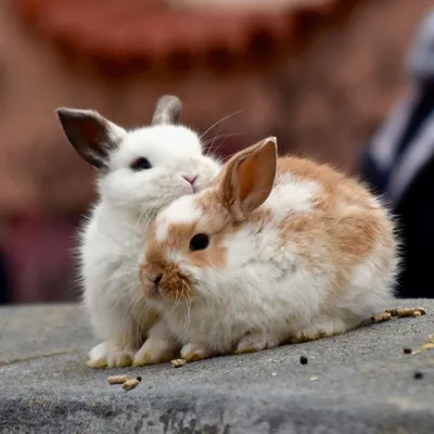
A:
[[[434,10],[410,53],[412,91],[373,138],[362,176],[385,196],[403,240],[401,297],[434,297]]]

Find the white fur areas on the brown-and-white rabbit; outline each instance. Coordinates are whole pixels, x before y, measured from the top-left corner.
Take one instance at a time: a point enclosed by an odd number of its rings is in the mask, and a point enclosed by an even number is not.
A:
[[[321,264],[319,269],[311,269],[291,237],[282,245],[278,230],[284,216],[316,212],[312,200],[321,193],[321,186],[289,175],[277,179],[263,205],[272,210],[273,221],[260,231],[254,224],[244,224],[229,235],[226,269],[197,268],[182,252],[167,252],[169,260],[197,281],[191,303],[174,307],[159,298],[152,302],[184,345],[181,355],[194,358],[231,352],[233,347],[240,352],[263,349],[279,345],[289,335],[297,340],[342,333],[390,302],[397,270],[396,245],[385,246],[380,237],[378,247],[354,270],[349,288],[342,289],[342,296],[333,294],[336,266],[330,260],[324,240],[305,234],[311,246],[310,257]],[[201,219],[191,213],[196,203],[197,195],[176,201],[158,216],[161,225],[176,224],[178,215],[191,215],[190,221],[201,227]],[[381,207],[378,201],[373,203]],[[352,204],[339,206],[343,215],[357,215]],[[201,230],[206,227],[205,220],[206,216]]]

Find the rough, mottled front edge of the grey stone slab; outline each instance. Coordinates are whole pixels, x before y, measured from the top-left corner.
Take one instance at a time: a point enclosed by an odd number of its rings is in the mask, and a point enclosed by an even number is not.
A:
[[[252,397],[212,386],[148,395],[113,390],[81,399],[51,396],[27,387],[0,403],[0,430],[7,432],[136,433],[399,433],[432,434],[427,408],[394,403],[368,404],[356,396],[330,398],[269,393]],[[131,399],[132,398],[132,399]],[[120,401],[120,405],[119,405]]]

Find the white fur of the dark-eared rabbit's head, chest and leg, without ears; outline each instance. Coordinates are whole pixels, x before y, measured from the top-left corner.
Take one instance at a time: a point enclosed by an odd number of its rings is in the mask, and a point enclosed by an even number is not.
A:
[[[115,128],[123,139],[98,180],[100,199],[80,245],[84,304],[97,336],[104,341],[90,353],[90,366],[131,361],[156,319],[140,289],[143,233],[164,206],[193,193],[182,176],[197,176],[195,188],[202,190],[219,170],[187,127],[157,125],[131,132]],[[138,157],[146,157],[152,168],[133,171],[130,164]]]

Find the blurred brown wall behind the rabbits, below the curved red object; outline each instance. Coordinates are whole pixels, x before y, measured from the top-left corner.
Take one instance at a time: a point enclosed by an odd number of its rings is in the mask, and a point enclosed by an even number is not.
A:
[[[150,120],[159,95],[175,93],[183,101],[182,120],[201,130],[242,110],[207,135],[233,135],[215,141],[226,153],[276,135],[281,150],[350,171],[405,91],[405,54],[431,5],[359,1],[344,23],[322,29],[269,68],[181,76],[138,69],[115,78],[69,68],[50,40],[1,2],[0,235],[13,270],[13,299],[65,297],[73,279],[68,250],[93,197],[94,173],[66,142],[55,107],[91,107],[133,126]]]

